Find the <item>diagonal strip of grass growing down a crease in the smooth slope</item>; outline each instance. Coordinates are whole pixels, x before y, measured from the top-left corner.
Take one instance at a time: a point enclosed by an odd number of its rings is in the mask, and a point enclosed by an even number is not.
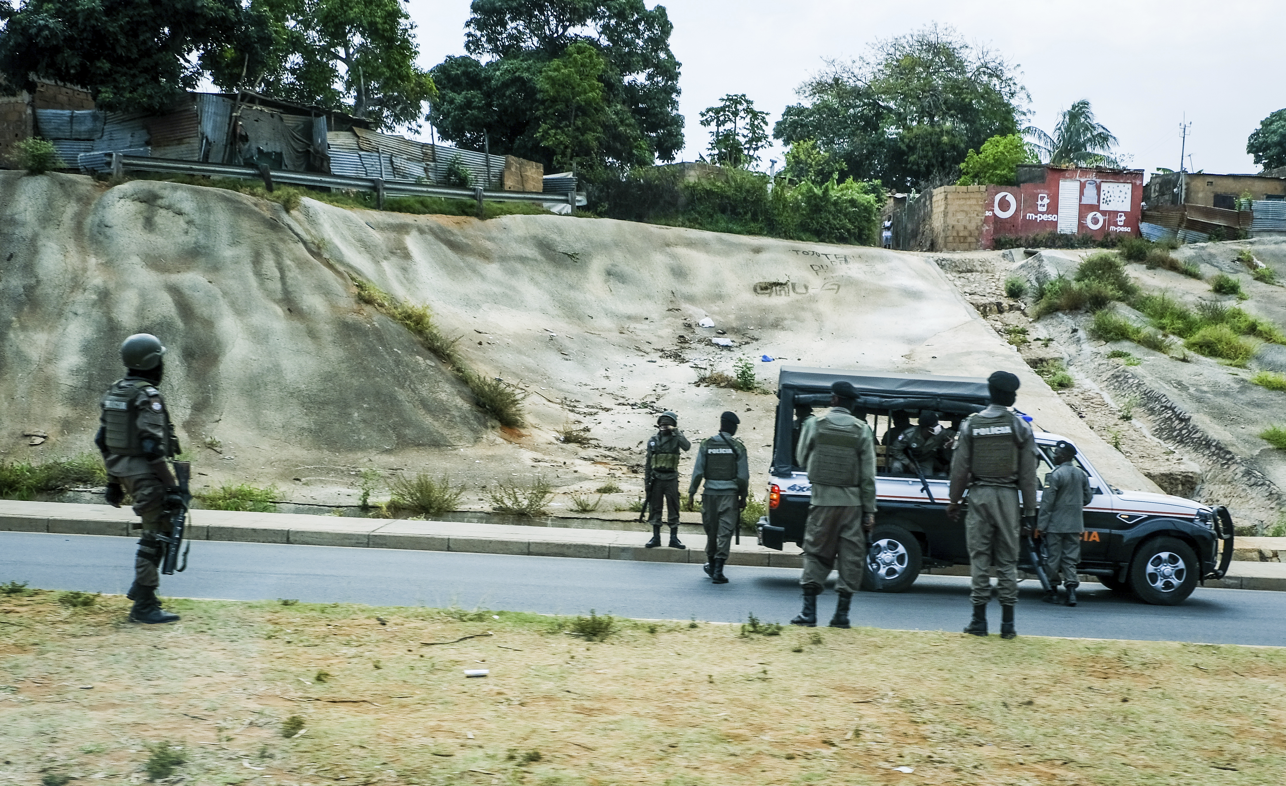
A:
[[[522,394],[495,377],[482,376],[466,365],[464,356],[455,349],[459,338],[450,338],[435,323],[428,306],[417,306],[400,301],[383,292],[373,283],[352,277],[358,288],[358,300],[374,306],[385,316],[401,324],[419,338],[424,349],[433,352],[439,360],[460,378],[473,394],[475,401],[502,426],[517,428],[526,425],[522,407]]]

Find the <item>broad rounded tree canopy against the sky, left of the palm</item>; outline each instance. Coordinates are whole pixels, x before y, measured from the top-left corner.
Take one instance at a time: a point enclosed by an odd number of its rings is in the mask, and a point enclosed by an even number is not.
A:
[[[954,181],[970,148],[1017,133],[1028,98],[1016,66],[937,26],[831,60],[799,93],[775,138],[813,139],[851,176],[903,190]]]

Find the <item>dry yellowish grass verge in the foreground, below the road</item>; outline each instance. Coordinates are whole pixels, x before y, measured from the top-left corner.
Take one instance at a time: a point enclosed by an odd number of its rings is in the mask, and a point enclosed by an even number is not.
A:
[[[586,641],[570,617],[184,599],[159,648],[122,597],[54,597],[0,599],[15,783],[59,763],[141,780],[171,740],[174,776],[211,785],[891,783],[910,767],[953,786],[1214,786],[1286,768],[1265,722],[1280,648],[619,617]],[[165,691],[138,690],[158,673]],[[288,738],[292,717],[307,731]]]

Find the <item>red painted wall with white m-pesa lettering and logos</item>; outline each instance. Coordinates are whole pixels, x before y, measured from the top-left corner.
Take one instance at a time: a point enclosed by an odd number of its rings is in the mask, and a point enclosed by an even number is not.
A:
[[[1142,170],[1046,167],[1043,183],[989,185],[983,217],[983,248],[999,235],[1058,232],[1139,237]]]

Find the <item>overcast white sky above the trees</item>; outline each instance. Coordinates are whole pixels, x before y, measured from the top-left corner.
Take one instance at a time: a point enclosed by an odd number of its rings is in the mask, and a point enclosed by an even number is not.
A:
[[[655,0],[646,0],[648,6]],[[1192,126],[1191,169],[1255,172],[1246,136],[1286,107],[1282,0],[671,0],[670,48],[683,63],[682,158],[694,160],[709,133],[701,109],[745,93],[775,122],[795,89],[824,58],[862,54],[867,44],[930,22],[950,24],[1019,63],[1031,93],[1030,121],[1052,131],[1082,98],[1120,139],[1132,166],[1151,172],[1179,162],[1179,123]],[[421,59],[432,67],[464,54],[468,0],[409,0]],[[772,127],[772,126],[769,126]],[[781,160],[781,151],[765,156]]]

